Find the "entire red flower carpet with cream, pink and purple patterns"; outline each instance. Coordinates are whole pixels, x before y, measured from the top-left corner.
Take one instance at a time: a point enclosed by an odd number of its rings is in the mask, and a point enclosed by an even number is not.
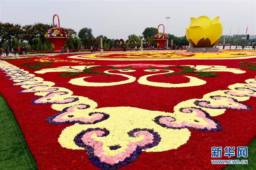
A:
[[[0,93],[38,169],[223,169],[256,135],[255,54],[1,58]]]

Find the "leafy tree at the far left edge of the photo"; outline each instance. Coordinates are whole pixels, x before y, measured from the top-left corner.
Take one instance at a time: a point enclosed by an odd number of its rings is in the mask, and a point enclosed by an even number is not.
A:
[[[10,48],[13,38],[17,38],[18,40],[20,40],[22,35],[21,25],[10,24],[9,22],[1,23],[0,32],[1,41],[8,41]]]

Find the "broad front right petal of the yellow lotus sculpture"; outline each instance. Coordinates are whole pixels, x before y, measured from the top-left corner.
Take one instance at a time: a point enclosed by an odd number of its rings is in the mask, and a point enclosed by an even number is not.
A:
[[[221,24],[213,24],[206,28],[205,30],[205,39],[208,38],[213,44],[221,36]]]

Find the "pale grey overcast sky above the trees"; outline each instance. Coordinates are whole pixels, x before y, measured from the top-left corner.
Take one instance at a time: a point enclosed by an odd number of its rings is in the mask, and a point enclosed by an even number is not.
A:
[[[0,1],[1,22],[21,25],[35,22],[52,23],[58,14],[60,26],[78,31],[83,27],[93,30],[93,35],[127,39],[129,34],[141,35],[146,27],[165,25],[170,16],[168,32],[185,35],[190,17],[220,16],[223,34],[255,35],[256,1]],[[55,23],[58,23],[55,18]],[[159,30],[162,32],[162,28]]]

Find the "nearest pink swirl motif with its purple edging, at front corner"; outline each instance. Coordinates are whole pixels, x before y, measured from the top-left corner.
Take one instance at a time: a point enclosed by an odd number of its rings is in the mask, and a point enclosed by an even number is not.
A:
[[[101,169],[118,169],[136,160],[142,153],[142,149],[152,148],[161,140],[160,135],[152,129],[133,129],[128,132],[129,137],[143,138],[138,141],[129,142],[127,148],[119,154],[107,156],[104,154],[103,143],[95,140],[95,136],[104,138],[109,134],[106,128],[89,128],[79,133],[74,138],[74,142],[77,146],[85,148],[88,158],[93,165]]]

